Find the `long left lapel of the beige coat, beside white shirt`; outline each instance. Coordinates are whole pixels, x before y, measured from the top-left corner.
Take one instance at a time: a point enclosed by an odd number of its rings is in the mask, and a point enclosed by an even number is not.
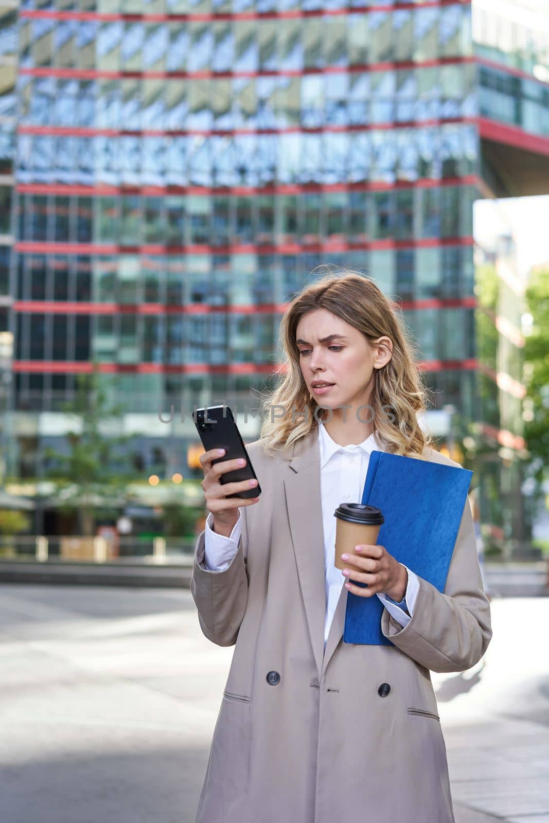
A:
[[[319,432],[316,428],[294,444],[288,466],[291,471],[288,477],[284,478],[286,508],[291,541],[294,546],[295,564],[320,681],[324,652],[326,592],[324,588],[324,531],[320,499]]]

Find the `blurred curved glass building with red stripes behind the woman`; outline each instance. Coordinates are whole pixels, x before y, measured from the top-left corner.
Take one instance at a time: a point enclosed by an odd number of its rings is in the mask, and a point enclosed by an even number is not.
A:
[[[143,471],[193,476],[193,405],[258,408],[287,300],[333,263],[402,302],[429,425],[523,538],[523,284],[473,202],[549,192],[547,4],[0,0],[0,26],[12,474],[40,476],[96,360]]]

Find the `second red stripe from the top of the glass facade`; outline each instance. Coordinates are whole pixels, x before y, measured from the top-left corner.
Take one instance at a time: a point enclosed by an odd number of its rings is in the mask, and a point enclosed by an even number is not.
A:
[[[432,68],[435,66],[474,63],[474,57],[442,57],[430,60],[385,60],[382,63],[354,63],[352,66],[303,67],[295,69],[264,69],[257,72],[130,72],[107,71],[95,68],[67,68],[55,66],[22,66],[20,74],[28,77],[60,77],[74,80],[223,80],[231,77],[303,77],[310,74],[357,74],[389,72],[398,69]]]

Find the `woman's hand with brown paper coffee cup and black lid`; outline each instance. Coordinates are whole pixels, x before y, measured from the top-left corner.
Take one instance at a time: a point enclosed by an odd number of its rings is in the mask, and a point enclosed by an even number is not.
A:
[[[381,510],[361,503],[342,503],[334,517],[334,565],[347,577],[345,587],[359,597],[372,597],[379,592],[400,602],[406,593],[408,573],[384,546],[376,543],[384,523]],[[367,588],[357,586],[356,582],[366,584]]]

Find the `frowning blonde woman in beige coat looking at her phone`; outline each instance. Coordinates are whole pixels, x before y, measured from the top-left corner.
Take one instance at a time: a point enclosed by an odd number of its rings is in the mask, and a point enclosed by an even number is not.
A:
[[[306,286],[282,317],[281,345],[281,382],[247,446],[262,495],[227,499],[249,481],[221,486],[234,461],[201,458],[210,514],[191,592],[204,635],[235,651],[196,821],[451,823],[430,670],[472,667],[491,639],[471,509],[444,593],[384,546],[348,561],[367,589],[345,582],[333,512],[361,501],[373,449],[457,464],[417,423],[425,393],[412,350],[370,279]],[[384,603],[390,645],[343,642],[349,590]]]

